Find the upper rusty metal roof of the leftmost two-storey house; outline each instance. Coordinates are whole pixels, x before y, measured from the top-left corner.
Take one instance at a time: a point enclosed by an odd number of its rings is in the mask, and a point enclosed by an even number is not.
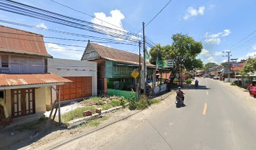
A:
[[[46,51],[41,34],[0,25],[1,52],[51,57]]]

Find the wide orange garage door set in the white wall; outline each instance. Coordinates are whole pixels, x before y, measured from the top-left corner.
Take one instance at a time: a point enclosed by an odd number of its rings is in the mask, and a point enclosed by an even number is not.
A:
[[[73,81],[72,84],[60,86],[60,100],[85,98],[92,96],[92,77],[64,77]],[[58,86],[57,86],[58,90]],[[58,94],[57,94],[58,99]]]

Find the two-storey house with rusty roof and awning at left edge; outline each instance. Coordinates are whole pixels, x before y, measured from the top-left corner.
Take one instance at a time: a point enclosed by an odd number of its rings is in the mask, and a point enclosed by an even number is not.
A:
[[[47,73],[46,58],[52,57],[41,34],[0,26],[0,124],[44,113],[51,87],[72,83]]]

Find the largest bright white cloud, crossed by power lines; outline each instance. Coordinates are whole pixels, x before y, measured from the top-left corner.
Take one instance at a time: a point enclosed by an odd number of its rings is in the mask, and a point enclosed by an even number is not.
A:
[[[125,31],[122,26],[122,20],[125,17],[121,11],[119,11],[117,9],[112,10],[112,11],[110,11],[109,16],[106,16],[106,14],[104,12],[95,12],[94,15],[95,15],[95,17],[92,19],[93,23],[119,30],[119,31],[113,31],[112,29],[103,29],[105,33],[107,33],[107,34],[110,34],[110,32],[120,33],[120,31],[122,31],[121,36],[115,37],[115,39],[117,39],[119,41],[122,41],[124,39],[124,36],[122,36],[122,35],[124,35],[127,31]],[[109,22],[110,24],[107,22]],[[102,27],[98,27],[98,26],[94,26],[94,27],[95,27],[95,29],[98,29],[98,30],[102,29]]]

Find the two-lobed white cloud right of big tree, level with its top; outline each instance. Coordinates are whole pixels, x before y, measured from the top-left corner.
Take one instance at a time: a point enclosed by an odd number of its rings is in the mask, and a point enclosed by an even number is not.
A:
[[[228,36],[231,33],[230,29],[225,29],[223,32],[218,32],[215,34],[210,34],[209,32],[205,33],[205,42],[207,44],[220,44],[220,36]]]

